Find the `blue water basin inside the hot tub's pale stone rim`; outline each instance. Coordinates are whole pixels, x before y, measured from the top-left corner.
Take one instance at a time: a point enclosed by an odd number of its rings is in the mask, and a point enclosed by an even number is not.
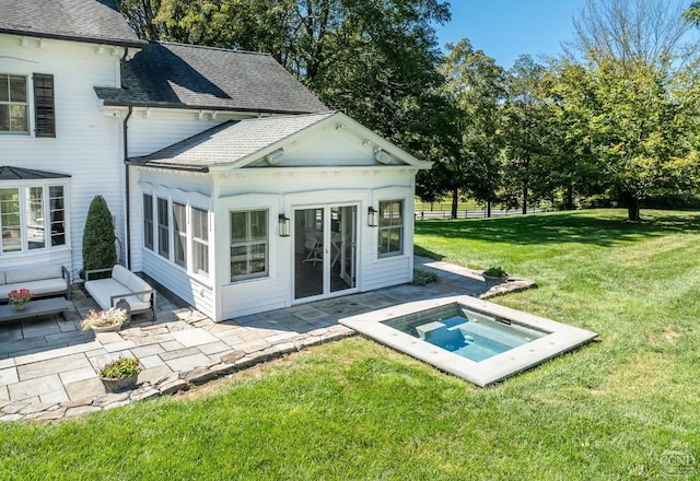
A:
[[[540,332],[465,308],[393,319],[388,326],[471,361],[483,361],[541,338]]]

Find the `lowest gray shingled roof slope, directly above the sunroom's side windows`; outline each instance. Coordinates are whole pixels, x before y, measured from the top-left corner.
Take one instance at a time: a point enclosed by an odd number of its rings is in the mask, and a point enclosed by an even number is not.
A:
[[[332,113],[324,113],[228,121],[151,155],[131,159],[131,162],[200,169],[217,164],[231,164],[331,115]]]

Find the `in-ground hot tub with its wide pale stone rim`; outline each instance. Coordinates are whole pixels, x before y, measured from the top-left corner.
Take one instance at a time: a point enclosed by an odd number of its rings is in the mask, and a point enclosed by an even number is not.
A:
[[[481,387],[597,336],[467,295],[401,304],[340,324]]]

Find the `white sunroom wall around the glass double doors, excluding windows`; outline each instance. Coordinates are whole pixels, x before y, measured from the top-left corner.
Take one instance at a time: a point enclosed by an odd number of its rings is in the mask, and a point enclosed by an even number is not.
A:
[[[409,282],[412,275],[412,196],[413,171],[293,169],[290,172],[237,172],[222,176],[217,187],[217,279],[221,309],[217,319],[289,307],[293,301],[292,237],[277,235],[277,218],[292,218],[295,209],[307,206],[358,206],[358,291],[369,291]],[[377,257],[377,228],[368,226],[370,206],[384,199],[405,202],[404,253]],[[268,208],[270,212],[270,273],[252,281],[231,283],[229,273],[229,220],[231,208]],[[223,222],[222,222],[223,221]],[[223,224],[223,225],[222,225]]]

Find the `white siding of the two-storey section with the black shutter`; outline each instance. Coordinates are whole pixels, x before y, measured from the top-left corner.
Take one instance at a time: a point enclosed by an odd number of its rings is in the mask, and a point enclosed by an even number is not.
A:
[[[114,48],[107,47],[100,54],[97,46],[91,44],[26,40],[27,45],[22,46],[21,37],[0,34],[0,72],[54,75],[56,138],[0,136],[0,165],[71,176],[67,212],[72,256],[66,263],[75,277],[82,267],[82,232],[94,196],[102,195],[107,201],[117,236],[124,242],[121,119],[103,115],[93,90],[95,85],[118,85],[122,50],[115,52]],[[10,257],[3,256],[3,263],[32,265],[46,256]]]

